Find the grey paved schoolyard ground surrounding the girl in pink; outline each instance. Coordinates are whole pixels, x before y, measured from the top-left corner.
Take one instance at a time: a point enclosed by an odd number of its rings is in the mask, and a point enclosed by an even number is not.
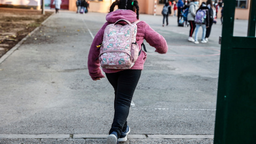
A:
[[[105,16],[54,14],[0,63],[0,143],[105,143],[114,91],[106,78],[94,82],[87,71]],[[176,17],[169,17],[168,27],[161,15],[140,19],[166,38],[169,52],[157,54],[146,44],[148,58],[127,120],[133,135],[124,143],[213,143],[221,25],[213,25],[209,43],[196,45]]]

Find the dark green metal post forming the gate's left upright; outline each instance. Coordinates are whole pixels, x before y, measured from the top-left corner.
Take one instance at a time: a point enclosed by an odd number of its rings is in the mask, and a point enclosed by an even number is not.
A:
[[[221,37],[221,54],[220,54],[220,71],[218,84],[218,98],[216,117],[219,118],[215,122],[214,143],[225,143],[226,140],[226,125],[227,125],[227,105],[228,97],[225,89],[228,85],[228,65],[230,65],[231,55],[229,53],[230,44],[232,43],[235,17],[235,2],[236,0],[225,0],[225,9],[223,10],[223,25]],[[222,83],[220,83],[220,81]],[[221,133],[219,131],[222,131]]]

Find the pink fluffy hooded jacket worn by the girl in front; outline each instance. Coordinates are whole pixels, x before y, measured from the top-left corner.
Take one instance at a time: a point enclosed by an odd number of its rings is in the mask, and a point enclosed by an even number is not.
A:
[[[126,19],[126,20],[129,20],[130,22],[135,22],[138,20],[136,13],[131,10],[116,10],[114,12],[110,12],[107,14],[106,16],[107,22],[102,26],[102,28],[95,35],[95,38],[93,39],[89,56],[88,56],[89,74],[93,80],[95,80],[96,78],[104,77],[104,75],[101,73],[99,59],[97,59],[100,54],[100,51],[97,50],[98,49],[97,45],[99,45],[103,41],[103,34],[104,34],[105,28],[109,24],[115,23],[119,19]],[[139,23],[137,23],[137,28],[138,28],[138,31],[137,31],[136,41],[139,45],[139,50],[141,49],[141,44],[143,43],[143,39],[146,39],[146,41],[149,43],[150,46],[153,46],[156,48],[156,52],[158,53],[167,52],[168,46],[164,37],[158,34],[152,28],[150,28],[150,26],[145,21],[140,21]],[[142,70],[146,58],[147,58],[146,52],[142,51],[137,61],[135,61],[134,66],[131,69]],[[116,73],[118,71],[121,71],[120,69],[105,69],[105,68],[103,68],[102,70],[105,73]]]

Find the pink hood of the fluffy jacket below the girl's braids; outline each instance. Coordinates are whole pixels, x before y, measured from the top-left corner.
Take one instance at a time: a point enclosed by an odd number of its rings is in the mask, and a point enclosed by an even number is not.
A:
[[[106,16],[106,20],[110,23],[115,23],[119,19],[126,19],[130,22],[137,21],[137,14],[133,12],[132,10],[116,10],[113,12],[110,12]]]

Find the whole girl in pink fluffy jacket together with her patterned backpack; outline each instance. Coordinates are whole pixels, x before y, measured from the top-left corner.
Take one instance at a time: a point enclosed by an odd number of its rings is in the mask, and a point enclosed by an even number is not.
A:
[[[116,5],[118,9],[114,11]],[[168,46],[163,36],[145,21],[139,21],[137,0],[116,0],[110,6],[106,20],[93,39],[87,67],[93,81],[97,81],[105,77],[101,73],[101,66],[114,88],[115,113],[107,144],[116,144],[126,141],[131,131],[126,120],[147,58],[145,51],[141,50],[143,39],[154,46],[158,53],[166,53]]]

